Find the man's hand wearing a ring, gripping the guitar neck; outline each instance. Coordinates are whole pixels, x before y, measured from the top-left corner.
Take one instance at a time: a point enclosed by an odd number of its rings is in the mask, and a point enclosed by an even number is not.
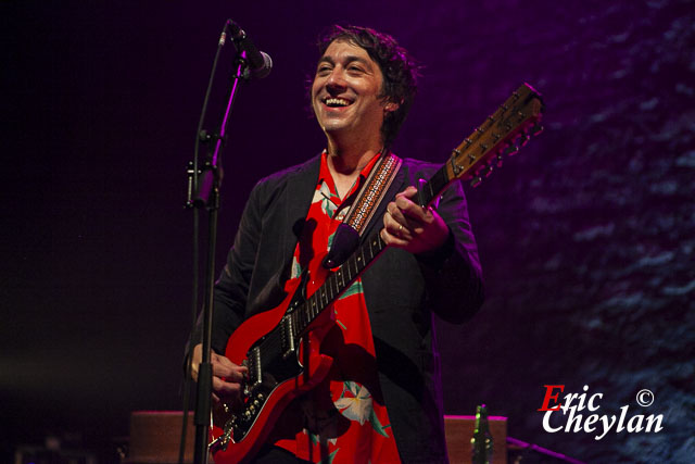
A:
[[[448,238],[448,227],[432,208],[414,203],[410,199],[416,195],[410,186],[387,205],[381,239],[410,253],[434,251]]]

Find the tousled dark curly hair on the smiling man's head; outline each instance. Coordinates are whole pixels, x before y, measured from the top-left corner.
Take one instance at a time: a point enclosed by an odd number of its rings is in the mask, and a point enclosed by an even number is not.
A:
[[[399,104],[399,109],[386,114],[381,126],[381,138],[388,148],[395,139],[405,121],[417,91],[419,66],[407,50],[399,46],[393,37],[375,29],[359,26],[330,27],[318,40],[320,57],[336,40],[346,41],[363,48],[379,65],[383,75],[382,91],[386,101]]]

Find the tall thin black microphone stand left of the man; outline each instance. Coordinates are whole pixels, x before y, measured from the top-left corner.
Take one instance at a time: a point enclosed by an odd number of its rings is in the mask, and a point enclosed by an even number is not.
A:
[[[225,24],[225,30],[229,23]],[[219,47],[224,45],[226,33],[223,32],[220,37]],[[217,57],[215,58],[215,62]],[[216,63],[215,63],[216,64]],[[213,67],[214,70],[214,67]],[[214,74],[214,72],[213,72]],[[213,291],[215,285],[215,248],[217,241],[217,216],[219,210],[219,188],[222,185],[223,168],[222,168],[222,149],[226,141],[226,128],[229,122],[229,115],[231,113],[231,106],[237,95],[237,89],[241,79],[249,78],[249,63],[247,61],[247,52],[241,51],[237,55],[235,63],[235,72],[232,73],[229,89],[227,92],[227,104],[222,114],[222,121],[219,123],[219,131],[215,134],[208,134],[205,130],[201,130],[199,126],[199,142],[207,145],[207,160],[202,168],[198,167],[198,145],[195,150],[195,158],[193,161],[192,170],[189,170],[189,186],[192,181],[192,186],[189,188],[189,195],[192,193],[193,199],[189,198],[187,205],[194,208],[195,210],[206,209],[208,212],[208,228],[207,228],[207,268],[205,272],[205,297],[203,305],[203,355],[202,362],[199,367],[198,376],[198,393],[197,405],[194,415],[195,425],[195,449],[194,449],[194,463],[205,464],[207,462],[208,450],[208,432],[210,432],[210,417],[211,417],[211,394],[212,394],[212,364],[211,364],[211,348],[212,348],[212,319],[213,319]],[[212,76],[211,76],[212,81]],[[207,103],[207,96],[205,99],[205,105]],[[203,106],[203,115],[205,112],[205,105]],[[201,116],[202,117],[202,116]],[[192,177],[191,177],[192,176]],[[195,226],[198,225],[198,215],[195,213]],[[194,231],[195,238],[198,231]],[[198,263],[193,263],[198,266]],[[197,271],[195,271],[197,273]],[[194,286],[193,299],[197,300],[197,286]],[[193,346],[193,340],[191,340]],[[189,359],[192,353],[189,353]],[[188,375],[188,373],[187,373]]]

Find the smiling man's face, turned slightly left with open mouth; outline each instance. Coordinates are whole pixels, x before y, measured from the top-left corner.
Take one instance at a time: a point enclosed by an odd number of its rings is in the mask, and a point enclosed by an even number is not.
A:
[[[330,43],[312,85],[312,105],[324,131],[354,140],[376,137],[381,143],[384,112],[393,106],[379,97],[382,81],[366,50],[346,41]]]

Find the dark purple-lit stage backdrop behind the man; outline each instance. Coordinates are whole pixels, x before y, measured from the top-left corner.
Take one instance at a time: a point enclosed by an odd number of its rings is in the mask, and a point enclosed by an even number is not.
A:
[[[0,461],[49,434],[114,459],[130,411],[180,409],[185,167],[231,17],[275,65],[235,105],[218,260],[253,184],[323,148],[305,81],[325,26],[391,33],[425,65],[405,156],[443,161],[529,81],[545,133],[467,189],[489,297],[439,327],[446,412],[485,402],[510,436],[586,461],[688,462],[694,2],[250,3],[0,3]],[[549,434],[544,385],[665,429]]]

